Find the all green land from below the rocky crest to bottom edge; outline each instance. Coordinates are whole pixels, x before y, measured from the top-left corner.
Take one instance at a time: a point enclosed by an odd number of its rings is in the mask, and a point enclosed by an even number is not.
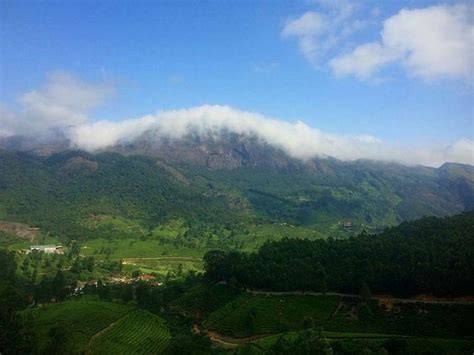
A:
[[[472,167],[278,159],[0,151],[0,353],[472,353]]]

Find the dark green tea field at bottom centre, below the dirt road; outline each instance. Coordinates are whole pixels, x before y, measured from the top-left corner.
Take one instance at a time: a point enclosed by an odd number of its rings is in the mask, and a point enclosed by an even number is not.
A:
[[[204,326],[236,337],[281,333],[301,329],[305,317],[318,323],[330,318],[338,303],[335,296],[242,294],[211,313]]]

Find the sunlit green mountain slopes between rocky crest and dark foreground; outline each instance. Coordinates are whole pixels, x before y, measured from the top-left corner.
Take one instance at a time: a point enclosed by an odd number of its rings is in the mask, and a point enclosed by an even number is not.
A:
[[[474,206],[474,173],[465,165],[282,159],[281,167],[209,170],[110,152],[42,158],[0,150],[0,217],[62,240],[151,238],[249,249],[260,244],[247,237],[262,234],[249,225],[275,224],[290,236],[291,226],[308,228],[301,230],[306,236],[347,236]]]

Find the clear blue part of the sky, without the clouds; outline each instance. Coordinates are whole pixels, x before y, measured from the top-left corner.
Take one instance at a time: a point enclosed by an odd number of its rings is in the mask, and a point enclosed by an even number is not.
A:
[[[337,28],[284,35],[305,13],[336,22],[341,9],[318,1],[2,1],[0,101],[15,109],[48,73],[65,71],[115,87],[92,120],[216,104],[389,143],[473,139],[472,75],[461,69],[420,74],[402,59],[383,59],[369,74],[354,61],[331,67],[357,46],[380,42],[384,21],[402,8],[462,3],[338,3],[351,10]],[[333,37],[336,44],[315,55],[299,46]]]

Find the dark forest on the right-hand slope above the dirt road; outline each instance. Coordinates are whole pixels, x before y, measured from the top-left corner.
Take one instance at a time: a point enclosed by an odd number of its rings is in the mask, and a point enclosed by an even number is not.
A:
[[[346,240],[285,239],[258,252],[211,251],[206,273],[216,281],[268,290],[474,294],[474,212],[422,218]]]

